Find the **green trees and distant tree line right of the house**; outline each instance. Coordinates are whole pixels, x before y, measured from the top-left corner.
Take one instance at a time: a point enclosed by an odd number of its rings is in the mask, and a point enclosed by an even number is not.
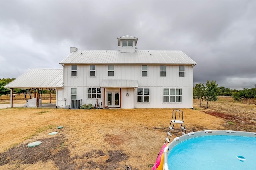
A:
[[[201,101],[206,100],[206,108],[208,108],[208,101],[216,101],[218,100],[218,96],[232,96],[234,100],[240,101],[243,99],[256,99],[256,88],[243,90],[232,90],[230,88],[218,87],[215,81],[207,80],[206,86],[203,83],[196,84],[193,88],[193,98]]]

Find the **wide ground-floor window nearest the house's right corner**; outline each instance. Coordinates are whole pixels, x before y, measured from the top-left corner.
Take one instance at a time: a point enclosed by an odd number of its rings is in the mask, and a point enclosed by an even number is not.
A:
[[[163,102],[182,102],[182,89],[181,88],[164,88]]]

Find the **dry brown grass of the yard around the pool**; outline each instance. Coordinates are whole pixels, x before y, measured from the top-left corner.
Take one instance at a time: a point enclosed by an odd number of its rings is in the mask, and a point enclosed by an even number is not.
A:
[[[233,130],[235,126],[242,131],[248,129],[243,129],[244,124],[230,125],[223,117],[206,114],[211,111],[235,115],[246,112],[253,116],[248,120],[255,121],[255,105],[233,102],[230,98],[210,102],[209,109],[199,108],[197,101],[194,104],[195,110],[181,109],[184,111],[187,133],[205,129]],[[18,149],[25,146],[24,149],[27,149],[28,143],[39,139],[53,139],[48,133],[59,131],[56,141],[60,143],[51,153],[54,155],[66,149],[67,159],[70,160],[66,162],[67,169],[127,170],[126,167],[129,166],[132,170],[150,170],[165,141],[171,116],[172,109],[0,109],[0,153],[4,154],[12,147]],[[249,130],[256,131],[256,123],[252,123]],[[57,129],[60,125],[64,129]],[[178,125],[174,128],[178,129]],[[180,135],[180,129],[174,130],[172,139]],[[118,152],[119,149],[127,164]],[[114,159],[110,162],[114,155],[118,162],[114,162]],[[1,159],[3,158],[0,157]],[[52,159],[33,164],[25,164],[24,160],[12,160],[0,164],[0,169],[64,168]]]

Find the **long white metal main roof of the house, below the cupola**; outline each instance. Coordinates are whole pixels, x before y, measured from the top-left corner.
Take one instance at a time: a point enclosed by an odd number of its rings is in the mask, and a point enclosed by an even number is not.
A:
[[[139,51],[121,53],[119,50],[75,51],[70,53],[60,64],[162,64],[194,65],[182,51]]]

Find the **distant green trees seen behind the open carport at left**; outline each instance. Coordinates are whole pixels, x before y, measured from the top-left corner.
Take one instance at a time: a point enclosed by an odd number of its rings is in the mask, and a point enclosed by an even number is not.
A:
[[[7,95],[10,94],[10,90],[8,88],[5,88],[4,86],[10,82],[12,82],[13,80],[15,80],[15,78],[0,78],[0,97],[2,95]],[[15,95],[20,95],[20,94],[24,94],[25,98],[27,95],[29,95],[30,99],[32,98],[32,94],[36,92],[36,89],[32,88],[32,89],[18,89],[18,88],[14,88],[13,89],[13,95],[15,97]],[[56,93],[55,90],[51,90],[51,93],[54,94]],[[49,90],[39,90],[39,95],[41,95],[42,98],[42,94],[49,94]]]

